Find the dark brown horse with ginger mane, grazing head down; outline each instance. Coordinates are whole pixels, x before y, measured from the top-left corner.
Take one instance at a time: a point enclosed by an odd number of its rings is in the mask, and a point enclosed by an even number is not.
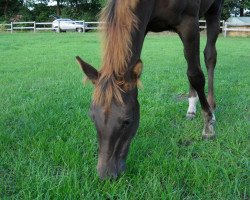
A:
[[[214,137],[215,43],[220,31],[222,4],[223,0],[109,0],[100,19],[105,22],[100,71],[76,57],[95,85],[90,115],[98,135],[97,170],[101,179],[115,178],[125,170],[129,146],[139,125],[137,84],[142,72],[140,55],[149,31],[173,30],[179,34],[190,83],[187,117],[195,116],[199,99],[204,118],[202,136],[204,139]],[[204,92],[205,77],[199,56],[201,16],[207,22],[204,54],[208,70],[208,98]]]

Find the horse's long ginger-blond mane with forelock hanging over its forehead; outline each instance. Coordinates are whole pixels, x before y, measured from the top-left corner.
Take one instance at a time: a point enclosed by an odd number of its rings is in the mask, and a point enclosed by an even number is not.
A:
[[[105,22],[103,60],[94,104],[108,107],[112,99],[123,102],[121,85],[132,56],[132,32],[138,23],[134,15],[137,3],[138,0],[109,0],[101,13],[100,21]]]

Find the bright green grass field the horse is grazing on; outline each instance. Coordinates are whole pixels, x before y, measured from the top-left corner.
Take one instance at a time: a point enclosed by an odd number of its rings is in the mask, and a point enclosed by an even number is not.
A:
[[[98,34],[1,34],[0,199],[249,199],[250,39],[220,37],[217,47],[217,138],[202,141],[200,106],[195,120],[185,118],[180,40],[147,36],[127,171],[102,182],[93,88],[74,58],[98,67]]]

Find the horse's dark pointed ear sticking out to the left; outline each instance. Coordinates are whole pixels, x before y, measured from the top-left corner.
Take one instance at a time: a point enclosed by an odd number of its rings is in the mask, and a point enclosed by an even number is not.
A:
[[[100,76],[99,72],[90,64],[84,62],[79,56],[76,56],[76,60],[81,66],[83,72],[88,77],[88,79],[91,80],[93,84],[95,84]]]

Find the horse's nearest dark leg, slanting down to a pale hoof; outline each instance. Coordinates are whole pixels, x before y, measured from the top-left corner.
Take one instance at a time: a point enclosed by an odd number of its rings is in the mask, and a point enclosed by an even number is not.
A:
[[[203,138],[211,139],[215,136],[214,115],[205,95],[205,77],[200,67],[200,33],[198,17],[186,16],[182,23],[176,27],[183,45],[185,58],[188,64],[187,76],[190,85],[196,90],[204,117]]]

